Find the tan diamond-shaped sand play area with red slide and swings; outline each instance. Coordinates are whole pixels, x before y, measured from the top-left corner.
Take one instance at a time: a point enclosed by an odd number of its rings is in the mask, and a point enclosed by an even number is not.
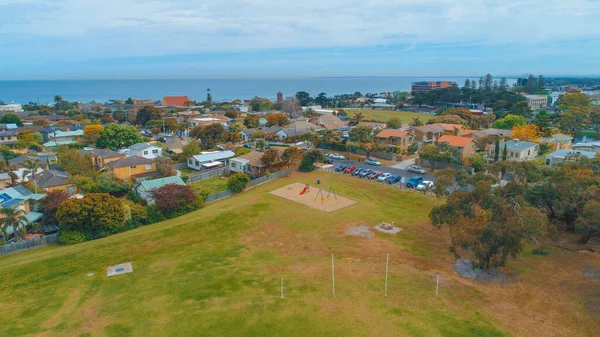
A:
[[[329,187],[323,187],[321,193],[319,193],[319,187],[311,185],[308,190],[304,191],[305,187],[306,184],[294,183],[269,193],[325,212],[335,212],[356,203],[356,201],[344,198],[334,193],[334,191],[330,192]],[[304,193],[300,194],[303,191]]]

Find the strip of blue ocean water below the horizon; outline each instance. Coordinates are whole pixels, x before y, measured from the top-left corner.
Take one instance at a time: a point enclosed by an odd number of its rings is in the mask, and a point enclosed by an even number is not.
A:
[[[471,78],[478,80],[478,78]],[[462,86],[465,77],[323,77],[286,79],[175,79],[175,80],[47,80],[47,81],[0,81],[0,100],[5,103],[39,102],[48,104],[55,95],[72,102],[104,103],[112,99],[161,100],[163,96],[187,95],[192,100],[206,99],[210,88],[214,101],[249,99],[254,96],[274,100],[277,92],[284,97],[298,91],[311,95],[321,92],[328,96],[360,92],[381,93],[410,91],[411,82],[455,81]],[[509,84],[515,80],[509,79]]]

